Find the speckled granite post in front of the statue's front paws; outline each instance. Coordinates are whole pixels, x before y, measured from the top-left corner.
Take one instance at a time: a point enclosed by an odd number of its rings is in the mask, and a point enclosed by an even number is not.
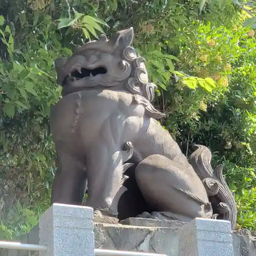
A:
[[[39,219],[40,256],[94,256],[93,208],[53,204]]]

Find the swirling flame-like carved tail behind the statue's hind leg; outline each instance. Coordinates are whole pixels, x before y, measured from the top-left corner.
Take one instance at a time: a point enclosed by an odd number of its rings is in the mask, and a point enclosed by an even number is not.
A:
[[[223,165],[216,169],[211,167],[211,152],[206,146],[196,145],[197,150],[190,155],[188,161],[202,180],[214,215],[212,218],[227,220],[234,229],[237,222],[236,201],[223,177]]]

